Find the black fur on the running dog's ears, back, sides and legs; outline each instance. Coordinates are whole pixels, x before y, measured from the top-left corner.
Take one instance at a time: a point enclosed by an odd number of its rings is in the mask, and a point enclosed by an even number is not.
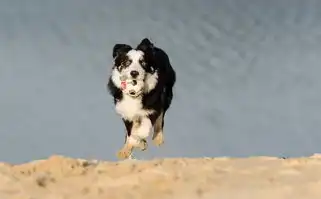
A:
[[[114,46],[112,53],[112,56],[115,59],[114,67],[121,64],[124,56],[126,56],[126,53],[131,49],[133,48],[127,44],[116,44]],[[163,127],[165,113],[171,106],[173,99],[173,87],[176,82],[176,73],[172,68],[167,53],[161,48],[155,47],[147,38],[143,39],[135,49],[141,50],[145,54],[145,71],[148,73],[158,73],[156,87],[149,93],[143,95],[142,104],[144,109],[155,111],[155,114],[149,115],[152,125],[155,124],[156,118],[163,111]],[[122,100],[123,93],[114,85],[113,81],[111,81],[111,77],[109,78],[107,88],[114,98],[114,104],[117,104],[118,101]],[[126,126],[127,135],[130,136],[133,123],[132,121],[126,121],[124,119],[123,122]]]

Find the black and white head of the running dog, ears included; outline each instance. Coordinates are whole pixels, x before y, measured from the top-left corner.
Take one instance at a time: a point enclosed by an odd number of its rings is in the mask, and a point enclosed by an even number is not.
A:
[[[144,90],[146,76],[154,72],[153,44],[148,39],[143,39],[135,49],[128,44],[116,44],[112,56],[115,85],[125,94],[139,96]]]

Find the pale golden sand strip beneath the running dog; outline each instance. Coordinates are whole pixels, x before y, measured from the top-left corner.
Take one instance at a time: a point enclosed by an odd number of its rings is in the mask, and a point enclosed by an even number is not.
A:
[[[7,199],[320,199],[321,155],[0,163]]]

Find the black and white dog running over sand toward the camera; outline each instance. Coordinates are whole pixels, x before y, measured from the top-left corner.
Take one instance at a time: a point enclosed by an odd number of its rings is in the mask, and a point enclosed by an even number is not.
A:
[[[173,99],[176,73],[167,53],[147,38],[136,48],[116,44],[112,56],[107,88],[126,127],[125,144],[117,153],[119,159],[126,159],[134,148],[147,149],[152,130],[155,145],[163,144],[164,116]]]

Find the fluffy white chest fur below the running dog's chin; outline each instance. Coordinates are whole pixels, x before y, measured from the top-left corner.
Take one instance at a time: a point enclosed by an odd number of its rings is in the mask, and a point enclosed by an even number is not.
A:
[[[116,104],[116,112],[124,119],[133,121],[138,117],[146,117],[153,112],[144,110],[141,98],[132,98],[128,95],[123,95],[123,99]]]

